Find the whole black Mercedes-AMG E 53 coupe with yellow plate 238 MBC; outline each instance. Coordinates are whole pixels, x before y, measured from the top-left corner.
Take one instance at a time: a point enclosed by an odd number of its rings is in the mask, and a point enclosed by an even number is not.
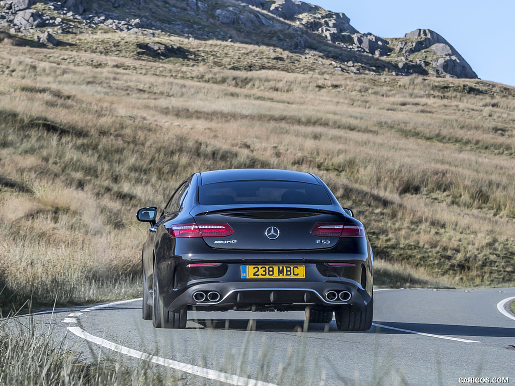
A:
[[[361,222],[312,173],[195,173],[150,223],[143,319],[184,328],[187,312],[304,310],[310,323],[372,325],[373,257]]]

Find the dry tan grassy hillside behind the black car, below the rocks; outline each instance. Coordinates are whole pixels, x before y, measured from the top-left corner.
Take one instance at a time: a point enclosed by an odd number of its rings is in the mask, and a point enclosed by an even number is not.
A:
[[[124,34],[74,39],[1,46],[4,309],[139,296],[136,209],[240,167],[318,174],[365,223],[377,285],[514,284],[512,87],[353,76],[227,42],[167,38],[197,54],[159,60]]]

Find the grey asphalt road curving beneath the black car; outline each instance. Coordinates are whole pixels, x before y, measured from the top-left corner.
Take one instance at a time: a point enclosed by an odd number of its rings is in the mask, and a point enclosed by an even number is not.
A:
[[[145,356],[188,385],[515,384],[515,317],[501,312],[510,297],[515,288],[376,290],[367,332],[340,332],[334,320],[303,332],[303,312],[236,311],[189,312],[186,329],[154,329],[141,300],[36,318],[86,356]]]

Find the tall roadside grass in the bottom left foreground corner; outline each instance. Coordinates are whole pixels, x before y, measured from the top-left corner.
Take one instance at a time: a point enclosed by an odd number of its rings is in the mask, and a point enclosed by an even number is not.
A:
[[[141,361],[129,366],[122,357],[86,360],[72,352],[63,337],[36,323],[28,325],[16,319],[0,320],[0,381],[6,386],[51,384],[80,385],[163,385],[163,376]],[[57,340],[57,342],[56,342]]]

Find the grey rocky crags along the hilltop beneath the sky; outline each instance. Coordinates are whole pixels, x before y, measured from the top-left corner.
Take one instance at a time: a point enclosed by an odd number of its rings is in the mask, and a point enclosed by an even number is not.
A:
[[[0,25],[7,25],[11,33],[30,35],[47,45],[55,44],[50,38],[54,34],[93,32],[92,29],[107,27],[144,37],[163,32],[303,53],[314,50],[322,57],[339,61],[340,67],[335,68],[341,69],[341,63],[352,63],[356,74],[477,77],[454,47],[432,30],[418,29],[399,39],[380,38],[359,33],[344,13],[301,1],[40,0],[44,6],[39,5],[38,9],[49,7],[53,16],[32,9],[35,2],[0,0]],[[122,6],[124,17],[118,11]],[[155,17],[157,14],[159,18]],[[47,32],[50,36],[45,35]],[[153,58],[178,55],[172,48],[145,45],[140,47],[140,54]],[[358,71],[359,63],[362,70],[367,69]]]

